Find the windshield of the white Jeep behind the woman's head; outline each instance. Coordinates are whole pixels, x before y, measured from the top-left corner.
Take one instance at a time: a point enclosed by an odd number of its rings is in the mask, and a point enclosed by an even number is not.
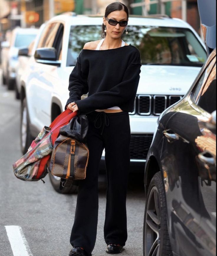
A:
[[[86,42],[101,39],[101,25],[71,26],[67,66],[73,66]],[[137,47],[143,65],[181,65],[202,67],[206,51],[190,29],[127,26],[123,40]]]

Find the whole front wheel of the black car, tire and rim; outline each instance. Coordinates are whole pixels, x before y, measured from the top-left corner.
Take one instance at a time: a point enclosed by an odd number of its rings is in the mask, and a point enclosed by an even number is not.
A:
[[[166,197],[161,173],[155,173],[148,188],[144,225],[143,256],[172,256],[167,227]]]

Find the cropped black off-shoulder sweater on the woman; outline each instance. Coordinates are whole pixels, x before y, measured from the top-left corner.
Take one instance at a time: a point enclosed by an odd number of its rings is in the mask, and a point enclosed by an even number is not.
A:
[[[82,114],[119,106],[132,112],[139,83],[139,50],[123,46],[109,50],[82,50],[69,77],[69,99]],[[86,99],[81,100],[83,94]]]

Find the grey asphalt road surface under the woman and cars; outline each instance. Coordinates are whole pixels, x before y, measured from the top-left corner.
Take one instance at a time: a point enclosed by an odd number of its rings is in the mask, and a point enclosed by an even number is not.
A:
[[[24,182],[14,176],[12,164],[22,156],[19,145],[20,103],[15,100],[14,91],[7,91],[1,82],[0,120],[0,255],[68,256],[77,196],[55,192],[48,176],[45,177],[45,184],[42,181]],[[142,180],[142,175],[130,176],[128,240],[122,256],[142,256]],[[107,255],[103,237],[105,205],[106,183],[102,181],[99,186],[98,233],[93,256]]]

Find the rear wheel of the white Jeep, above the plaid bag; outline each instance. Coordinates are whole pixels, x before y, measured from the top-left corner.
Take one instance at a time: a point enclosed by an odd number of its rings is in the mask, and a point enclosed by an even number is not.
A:
[[[25,154],[34,138],[29,129],[29,113],[27,109],[26,98],[21,103],[21,121],[20,121],[20,143],[22,153]]]

